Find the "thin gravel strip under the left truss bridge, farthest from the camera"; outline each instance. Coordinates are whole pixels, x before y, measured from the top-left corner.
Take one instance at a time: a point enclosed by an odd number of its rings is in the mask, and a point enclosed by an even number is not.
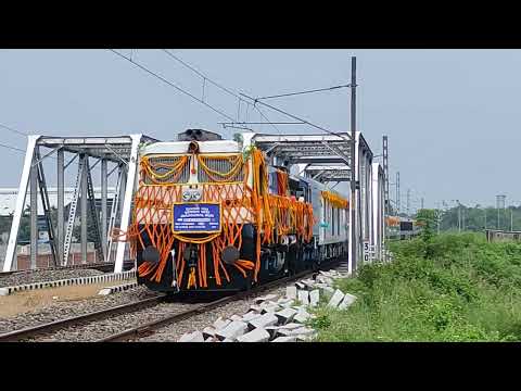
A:
[[[104,274],[96,269],[71,268],[71,269],[40,269],[30,272],[13,273],[0,277],[0,287],[12,287],[24,283],[54,281],[66,278],[92,277]]]

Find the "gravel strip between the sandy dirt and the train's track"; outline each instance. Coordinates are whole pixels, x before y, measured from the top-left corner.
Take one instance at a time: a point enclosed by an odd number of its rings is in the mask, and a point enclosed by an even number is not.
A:
[[[156,292],[150,291],[145,287],[140,286],[118,293],[100,295],[86,300],[59,302],[13,317],[0,318],[0,333],[105,310],[155,295],[157,295]]]

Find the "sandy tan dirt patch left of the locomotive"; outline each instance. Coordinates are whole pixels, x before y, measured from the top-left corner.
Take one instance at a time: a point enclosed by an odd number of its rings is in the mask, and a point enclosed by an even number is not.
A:
[[[0,318],[5,318],[22,313],[35,311],[56,302],[59,303],[81,301],[87,299],[103,299],[103,297],[98,295],[98,292],[102,288],[129,282],[134,282],[134,280],[107,281],[102,283],[66,286],[59,288],[45,288],[0,297]]]

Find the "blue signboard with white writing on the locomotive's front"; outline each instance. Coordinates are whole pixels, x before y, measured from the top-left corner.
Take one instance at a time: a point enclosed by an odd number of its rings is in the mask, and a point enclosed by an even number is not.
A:
[[[219,232],[220,204],[174,204],[174,232]]]

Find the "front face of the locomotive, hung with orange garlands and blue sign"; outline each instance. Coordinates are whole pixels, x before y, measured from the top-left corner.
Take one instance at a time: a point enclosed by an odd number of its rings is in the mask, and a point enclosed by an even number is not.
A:
[[[139,163],[129,231],[138,282],[166,292],[251,285],[260,189],[242,146],[187,130],[176,142],[143,146]]]

